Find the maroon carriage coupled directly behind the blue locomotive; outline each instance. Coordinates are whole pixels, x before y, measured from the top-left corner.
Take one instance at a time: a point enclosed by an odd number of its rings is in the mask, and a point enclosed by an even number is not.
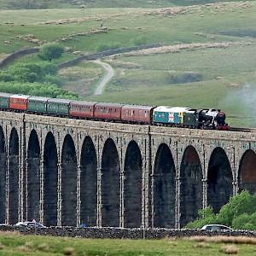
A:
[[[125,105],[121,110],[121,119],[132,124],[150,124],[153,106]]]

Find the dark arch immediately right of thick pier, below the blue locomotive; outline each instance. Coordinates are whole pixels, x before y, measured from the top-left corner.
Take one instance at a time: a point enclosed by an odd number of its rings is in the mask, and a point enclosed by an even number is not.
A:
[[[176,171],[170,148],[161,143],[154,160],[154,227],[175,228]]]

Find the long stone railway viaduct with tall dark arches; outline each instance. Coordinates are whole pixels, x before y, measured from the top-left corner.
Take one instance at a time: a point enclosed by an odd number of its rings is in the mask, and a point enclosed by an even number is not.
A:
[[[0,112],[0,223],[180,228],[256,192],[256,133]]]

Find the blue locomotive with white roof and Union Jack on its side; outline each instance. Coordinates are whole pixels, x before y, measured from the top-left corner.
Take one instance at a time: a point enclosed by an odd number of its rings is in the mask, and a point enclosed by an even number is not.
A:
[[[189,108],[160,106],[154,108],[153,122],[156,125],[183,125],[183,113]]]

